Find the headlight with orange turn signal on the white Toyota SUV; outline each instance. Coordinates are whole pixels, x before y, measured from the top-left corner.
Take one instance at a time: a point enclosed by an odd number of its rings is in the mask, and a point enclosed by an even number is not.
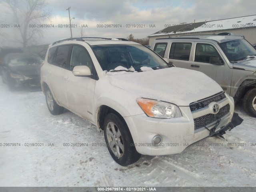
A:
[[[182,117],[180,109],[174,104],[144,98],[136,101],[147,116],[165,119]]]

